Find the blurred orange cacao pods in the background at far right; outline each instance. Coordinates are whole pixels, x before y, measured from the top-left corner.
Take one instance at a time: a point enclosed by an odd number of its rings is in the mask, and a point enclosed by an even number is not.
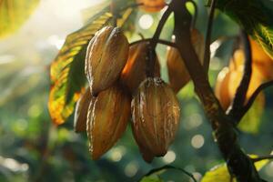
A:
[[[273,79],[273,60],[264,50],[250,38],[252,56],[252,75],[248,86],[246,103],[255,90],[264,81]],[[241,48],[238,48],[229,61],[229,66],[224,67],[217,76],[215,93],[221,106],[227,110],[230,106],[237,88],[244,74],[245,55]]]

